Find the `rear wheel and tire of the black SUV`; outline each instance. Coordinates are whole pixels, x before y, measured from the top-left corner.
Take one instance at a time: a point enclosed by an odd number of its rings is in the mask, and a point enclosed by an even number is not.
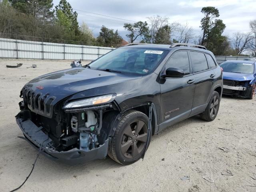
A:
[[[217,100],[218,100],[218,104],[217,104]],[[206,121],[213,121],[218,114],[219,108],[220,108],[220,95],[218,92],[214,91],[212,92],[210,101],[206,109],[204,110],[204,112],[200,114],[200,117]]]

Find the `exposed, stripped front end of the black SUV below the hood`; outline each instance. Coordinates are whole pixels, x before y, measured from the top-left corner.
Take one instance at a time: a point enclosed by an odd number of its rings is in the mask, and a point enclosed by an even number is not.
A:
[[[43,150],[45,156],[68,164],[106,157],[108,136],[120,115],[113,101],[71,109],[63,108],[63,101],[47,110],[47,98],[42,101],[37,94],[30,94],[22,94],[16,122],[32,146]]]

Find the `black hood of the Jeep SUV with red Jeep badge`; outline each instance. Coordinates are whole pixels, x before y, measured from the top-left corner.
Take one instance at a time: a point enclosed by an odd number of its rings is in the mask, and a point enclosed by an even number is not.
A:
[[[40,76],[28,82],[25,87],[56,97],[54,101],[56,103],[84,90],[118,84],[136,78],[141,77],[80,67]]]

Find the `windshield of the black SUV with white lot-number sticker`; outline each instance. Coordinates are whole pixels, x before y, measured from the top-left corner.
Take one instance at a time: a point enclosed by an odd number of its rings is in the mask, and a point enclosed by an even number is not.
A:
[[[101,56],[89,67],[96,70],[146,75],[154,71],[168,50],[148,48],[117,48]]]

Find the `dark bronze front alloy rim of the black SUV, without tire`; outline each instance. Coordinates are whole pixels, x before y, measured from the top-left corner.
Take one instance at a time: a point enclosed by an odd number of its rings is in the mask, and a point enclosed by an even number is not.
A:
[[[121,141],[121,151],[126,158],[140,154],[147,142],[148,126],[142,120],[136,120],[126,126]]]

